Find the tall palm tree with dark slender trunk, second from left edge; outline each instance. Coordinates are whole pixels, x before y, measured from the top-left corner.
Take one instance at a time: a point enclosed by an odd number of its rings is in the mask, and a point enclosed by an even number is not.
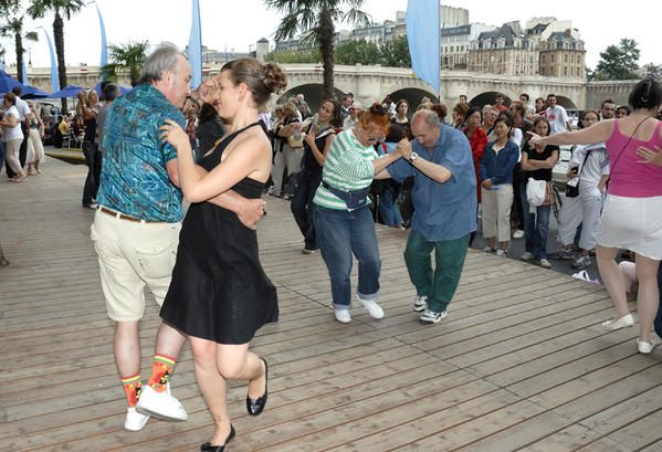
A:
[[[71,17],[83,8],[83,0],[31,0],[28,14],[32,19],[43,18],[49,12],[55,13],[53,20],[53,39],[55,40],[55,53],[57,54],[57,74],[60,87],[64,88],[66,83],[66,65],[64,63],[64,21],[62,15],[70,20]],[[62,109],[66,112],[66,99],[62,99]]]

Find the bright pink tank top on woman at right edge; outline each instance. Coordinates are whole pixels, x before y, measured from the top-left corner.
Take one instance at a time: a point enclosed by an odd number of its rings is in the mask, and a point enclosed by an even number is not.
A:
[[[609,193],[627,198],[662,196],[662,167],[639,164],[643,159],[637,155],[639,146],[645,146],[653,150],[655,146],[662,148],[661,129],[662,122],[658,122],[653,136],[648,141],[630,139],[628,135],[621,133],[619,119],[616,119],[611,136],[607,140],[607,153],[611,167]]]

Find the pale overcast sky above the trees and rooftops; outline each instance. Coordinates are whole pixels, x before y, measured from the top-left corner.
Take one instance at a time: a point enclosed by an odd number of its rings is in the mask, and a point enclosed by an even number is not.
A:
[[[29,0],[23,0],[28,4]],[[281,17],[267,10],[262,0],[199,0],[202,27],[202,44],[211,49],[245,51],[255,48],[255,42],[266,38],[273,44],[273,32]],[[417,0],[411,0],[417,1]],[[128,41],[148,40],[156,45],[169,41],[180,48],[188,43],[191,18],[190,0],[96,0],[106,25],[108,44],[125,44]],[[656,0],[635,0],[634,8],[622,2],[553,0],[553,1],[476,1],[446,0],[443,4],[469,9],[471,22],[501,25],[519,20],[522,27],[533,17],[556,17],[570,20],[579,29],[587,50],[587,65],[595,69],[600,52],[608,45],[618,44],[621,38],[632,38],[641,50],[640,65],[662,63],[656,49],[660,21],[654,4]],[[374,22],[395,20],[396,11],[407,10],[407,0],[365,0],[364,8]],[[42,25],[52,33],[52,17],[35,21],[27,20],[25,31]],[[336,29],[349,29],[340,24]],[[67,65],[87,63],[98,65],[101,35],[94,4],[90,4],[64,24],[65,57]],[[8,65],[15,62],[12,40],[2,39],[7,50]],[[30,49],[33,66],[50,65],[49,48],[40,31],[39,42],[24,44]],[[658,51],[656,51],[658,50]],[[656,52],[655,52],[656,51]]]

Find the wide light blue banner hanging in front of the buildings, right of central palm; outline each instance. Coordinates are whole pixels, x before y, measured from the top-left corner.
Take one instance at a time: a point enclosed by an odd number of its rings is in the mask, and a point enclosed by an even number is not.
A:
[[[439,93],[441,76],[439,0],[407,2],[407,41],[411,69],[417,77]]]

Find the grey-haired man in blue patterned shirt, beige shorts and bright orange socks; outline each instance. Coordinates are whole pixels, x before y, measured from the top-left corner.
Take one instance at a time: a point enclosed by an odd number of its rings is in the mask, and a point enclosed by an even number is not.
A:
[[[105,123],[99,207],[91,236],[107,313],[116,322],[115,362],[128,403],[124,427],[130,431],[143,429],[148,414],[187,419],[168,385],[186,337],[161,325],[151,378],[143,388],[138,326],[145,286],[160,305],[170,285],[183,210],[177,151],[161,143],[159,127],[166,119],[185,126],[180,108],[190,80],[183,55],[170,44],[159,46],[147,59],[140,83],[114,102]],[[232,191],[208,202],[235,212],[249,228],[255,228],[263,214],[262,200],[246,200]],[[149,396],[146,407],[138,407],[141,395]]]

